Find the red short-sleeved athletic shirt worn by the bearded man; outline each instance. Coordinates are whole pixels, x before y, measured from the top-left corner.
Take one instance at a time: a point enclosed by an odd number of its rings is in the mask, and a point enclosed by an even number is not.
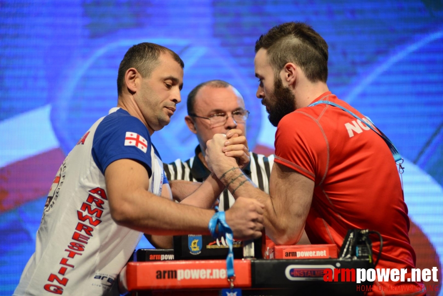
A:
[[[336,103],[365,119],[331,92],[316,101]],[[315,183],[305,226],[312,244],[336,244],[340,249],[348,229],[376,230],[383,238],[376,268],[408,268],[406,278],[410,277],[415,253],[397,166],[386,143],[365,122],[331,105],[300,108],[280,120],[275,155],[275,162]],[[379,242],[373,241],[376,258]],[[368,295],[425,294],[411,282],[376,281],[378,285],[385,288],[384,294],[375,289]],[[398,285],[415,286],[407,292],[392,291]]]

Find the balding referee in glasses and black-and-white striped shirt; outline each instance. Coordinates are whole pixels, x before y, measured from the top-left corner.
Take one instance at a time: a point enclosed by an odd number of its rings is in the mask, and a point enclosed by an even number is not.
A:
[[[170,164],[163,164],[170,181],[172,196],[178,201],[198,188],[200,183],[196,182],[203,182],[210,175],[204,160],[206,142],[212,139],[214,134],[226,134],[233,128],[240,129],[245,135],[249,114],[244,108],[243,97],[239,91],[222,80],[210,80],[197,85],[188,95],[187,108],[186,125],[196,134],[199,146],[195,148],[195,155],[190,159],[177,159]],[[249,179],[268,194],[273,159],[273,155],[266,157],[252,152],[249,164],[243,169]],[[221,211],[229,209],[235,202],[227,189],[220,195],[219,200]]]

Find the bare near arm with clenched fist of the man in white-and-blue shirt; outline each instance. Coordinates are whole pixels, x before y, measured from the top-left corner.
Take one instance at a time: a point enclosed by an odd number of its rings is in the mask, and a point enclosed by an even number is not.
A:
[[[214,211],[169,200],[168,184],[162,186],[164,197],[148,191],[147,171],[138,162],[125,158],[116,160],[106,168],[104,175],[110,214],[117,224],[150,235],[210,234],[208,224]],[[212,188],[220,189],[221,186]],[[164,193],[164,190],[168,192]],[[262,208],[257,201],[238,199],[225,214],[234,238],[260,237]]]

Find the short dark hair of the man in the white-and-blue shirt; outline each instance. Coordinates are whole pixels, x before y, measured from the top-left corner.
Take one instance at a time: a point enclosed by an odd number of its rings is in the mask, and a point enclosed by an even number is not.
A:
[[[176,54],[169,48],[148,42],[136,44],[128,49],[125,56],[123,57],[123,60],[120,62],[120,67],[118,67],[118,95],[122,94],[122,90],[125,85],[125,73],[126,71],[128,71],[128,69],[136,68],[141,77],[149,77],[155,67],[158,66],[158,58],[162,53],[170,53],[174,61],[180,64],[181,68],[185,67],[185,64],[180,59],[178,54]]]

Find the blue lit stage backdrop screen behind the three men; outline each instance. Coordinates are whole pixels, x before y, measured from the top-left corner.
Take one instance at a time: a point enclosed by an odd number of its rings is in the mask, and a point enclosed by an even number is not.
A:
[[[417,258],[422,268],[440,270],[442,0],[15,0],[0,1],[0,295],[12,294],[34,252],[45,195],[64,156],[115,106],[117,69],[131,45],[159,43],[185,63],[183,101],[152,137],[164,161],[193,154],[198,142],[184,124],[185,101],[209,79],[239,89],[251,111],[249,146],[272,153],[275,129],[255,98],[254,44],[287,21],[307,22],[326,39],[329,88],[405,157]]]

